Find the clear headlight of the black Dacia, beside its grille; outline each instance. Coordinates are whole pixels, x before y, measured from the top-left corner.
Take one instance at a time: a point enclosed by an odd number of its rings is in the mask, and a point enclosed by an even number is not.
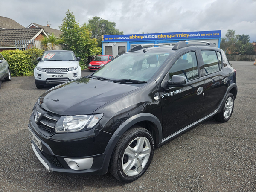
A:
[[[96,115],[74,115],[61,116],[55,125],[55,131],[59,132],[75,132],[92,129],[102,118],[103,113]]]

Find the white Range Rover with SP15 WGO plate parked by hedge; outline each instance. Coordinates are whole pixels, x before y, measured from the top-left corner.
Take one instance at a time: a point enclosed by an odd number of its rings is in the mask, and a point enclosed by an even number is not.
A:
[[[61,84],[81,77],[79,57],[73,51],[45,51],[34,69],[35,86],[40,89],[49,84]]]

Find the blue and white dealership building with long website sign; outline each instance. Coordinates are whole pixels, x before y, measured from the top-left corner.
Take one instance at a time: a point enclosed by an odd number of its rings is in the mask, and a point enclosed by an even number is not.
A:
[[[136,45],[150,47],[152,44],[175,45],[179,41],[207,41],[220,47],[221,31],[193,31],[173,33],[147,33],[131,35],[103,35],[102,55],[120,55]],[[148,44],[148,45],[147,45]]]

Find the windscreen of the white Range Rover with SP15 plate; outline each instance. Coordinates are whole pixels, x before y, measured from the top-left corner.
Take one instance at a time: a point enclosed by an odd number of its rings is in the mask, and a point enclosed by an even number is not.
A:
[[[41,61],[75,61],[75,56],[73,52],[44,52]]]

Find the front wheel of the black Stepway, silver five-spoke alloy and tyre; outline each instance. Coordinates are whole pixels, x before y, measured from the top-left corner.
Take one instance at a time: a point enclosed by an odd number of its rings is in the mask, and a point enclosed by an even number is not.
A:
[[[113,151],[109,171],[119,181],[130,183],[148,169],[154,155],[154,140],[145,128],[126,131]]]

